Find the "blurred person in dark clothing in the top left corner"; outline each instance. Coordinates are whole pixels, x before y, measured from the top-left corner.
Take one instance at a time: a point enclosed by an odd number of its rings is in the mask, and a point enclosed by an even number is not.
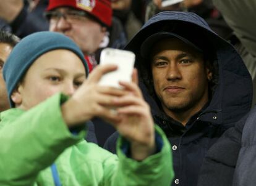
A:
[[[2,0],[0,18],[4,20],[2,27],[7,27],[19,38],[36,31],[48,30],[48,21],[43,12],[48,0]]]

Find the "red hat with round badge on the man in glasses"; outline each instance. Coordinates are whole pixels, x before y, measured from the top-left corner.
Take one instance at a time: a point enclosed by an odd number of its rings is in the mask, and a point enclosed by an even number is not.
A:
[[[113,11],[110,0],[49,0],[46,11],[66,6],[83,10],[106,26],[110,27],[112,24]]]

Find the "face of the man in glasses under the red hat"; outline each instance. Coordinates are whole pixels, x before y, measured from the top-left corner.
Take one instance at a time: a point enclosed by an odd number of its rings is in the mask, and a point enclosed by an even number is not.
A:
[[[83,54],[93,54],[99,48],[106,34],[106,27],[82,15],[73,13],[81,12],[68,7],[54,9],[53,12],[66,14],[66,18],[49,19],[49,30],[63,33],[72,39],[83,51]]]

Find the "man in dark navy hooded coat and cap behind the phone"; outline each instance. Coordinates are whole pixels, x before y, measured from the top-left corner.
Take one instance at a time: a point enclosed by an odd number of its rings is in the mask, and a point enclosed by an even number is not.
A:
[[[197,185],[203,158],[250,110],[252,79],[241,57],[198,15],[161,12],[126,49],[137,57],[140,88],[173,145],[173,185]],[[115,152],[117,133],[105,148]]]

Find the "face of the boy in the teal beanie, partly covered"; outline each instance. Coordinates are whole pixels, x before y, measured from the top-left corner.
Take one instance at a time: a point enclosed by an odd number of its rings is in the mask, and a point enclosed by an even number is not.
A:
[[[85,80],[85,67],[71,51],[54,50],[41,55],[28,69],[12,100],[28,110],[57,92],[72,95]]]

